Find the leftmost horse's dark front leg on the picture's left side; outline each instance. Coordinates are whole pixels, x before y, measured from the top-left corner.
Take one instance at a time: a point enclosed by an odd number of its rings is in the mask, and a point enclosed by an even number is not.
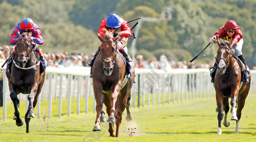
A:
[[[10,82],[10,80],[9,80],[9,82]],[[10,90],[10,98],[11,98],[11,100],[13,102],[13,106],[14,106],[13,120],[16,120],[17,126],[22,126],[23,120],[20,118],[20,112],[18,111],[18,107],[20,105],[20,100],[17,97],[16,87],[14,86],[13,83],[9,83],[9,90]]]

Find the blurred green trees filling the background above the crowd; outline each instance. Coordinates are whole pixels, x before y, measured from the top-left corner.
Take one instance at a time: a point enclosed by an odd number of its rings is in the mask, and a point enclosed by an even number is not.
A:
[[[137,35],[137,54],[144,55],[145,59],[165,54],[190,61],[205,48],[209,38],[232,19],[243,33],[243,54],[255,65],[256,2],[253,0],[0,0],[0,46],[9,45],[16,24],[28,17],[43,34],[45,42],[40,46],[43,52],[76,50],[90,55],[100,45],[98,28],[108,14],[116,13],[127,21],[138,17],[161,18],[161,12],[169,7],[172,8],[171,20],[143,22]],[[216,14],[218,18],[212,15],[217,10],[222,13]],[[130,22],[130,27],[136,22]],[[131,42],[127,45],[128,51],[130,46]],[[216,52],[217,46],[214,47]],[[208,47],[194,62],[207,63],[213,59],[212,49]]]

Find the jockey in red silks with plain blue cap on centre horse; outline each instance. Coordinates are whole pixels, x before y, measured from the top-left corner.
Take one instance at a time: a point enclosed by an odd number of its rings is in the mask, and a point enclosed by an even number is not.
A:
[[[122,26],[121,26],[122,25]],[[121,27],[120,27],[121,26]],[[107,19],[103,19],[101,21],[101,25],[99,28],[98,33],[101,35],[101,37],[104,37],[103,29],[107,29],[110,32],[114,32],[117,28],[120,27],[120,32],[115,32],[114,37],[119,35],[119,39],[117,40],[117,48],[118,50],[123,54],[123,56],[126,58],[127,64],[126,64],[126,75],[128,78],[131,77],[130,74],[130,68],[132,66],[132,61],[130,60],[128,56],[128,49],[126,47],[126,41],[128,40],[128,37],[132,35],[132,31],[129,25],[127,25],[127,21],[120,18],[119,15],[116,14],[110,14],[108,15]],[[95,55],[91,60],[88,61],[88,65],[92,67],[94,59],[100,52],[100,46],[97,49]],[[92,77],[92,74],[91,74]]]

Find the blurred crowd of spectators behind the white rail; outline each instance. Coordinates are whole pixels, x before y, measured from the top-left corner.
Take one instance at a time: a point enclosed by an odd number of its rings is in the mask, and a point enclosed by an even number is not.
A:
[[[14,51],[15,46],[0,46],[0,63],[4,63],[6,59],[9,58],[11,53]],[[48,62],[48,67],[70,67],[70,66],[86,66],[89,67],[87,64],[87,61],[90,60],[94,53],[91,55],[84,55],[83,53],[79,52],[71,52],[68,53],[67,51],[62,52],[54,52],[54,53],[46,53],[42,51],[45,57],[45,60]],[[160,66],[158,65],[160,63],[159,60],[157,60],[155,57],[150,58],[148,60],[144,60],[144,57],[142,55],[137,55],[136,58],[133,59],[135,68],[140,69],[160,69]],[[208,64],[197,64],[194,65],[194,62],[186,62],[186,61],[173,61],[171,58],[169,60],[168,65],[171,65],[170,67],[172,69],[175,68],[182,68],[182,69],[195,69],[195,68],[205,68],[209,69],[213,66],[215,61],[211,61]]]

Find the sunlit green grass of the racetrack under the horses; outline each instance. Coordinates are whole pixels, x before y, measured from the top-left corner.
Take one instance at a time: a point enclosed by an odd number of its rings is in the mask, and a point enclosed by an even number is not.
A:
[[[58,118],[58,99],[52,101],[52,118],[48,116],[48,102],[41,104],[41,119],[31,119],[30,133],[26,134],[26,124],[17,127],[12,120],[14,108],[8,102],[7,120],[0,120],[0,141],[255,141],[256,137],[256,95],[249,94],[242,111],[239,123],[239,134],[235,133],[236,122],[231,121],[228,113],[229,127],[222,125],[222,134],[217,134],[218,120],[215,97],[183,100],[183,102],[165,105],[131,108],[133,116],[131,122],[125,120],[120,127],[118,138],[109,137],[108,130],[98,136],[91,130],[94,126],[96,114],[92,113],[92,97],[90,98],[89,113],[84,113],[84,102],[80,102],[80,114],[76,115],[76,99],[72,99],[70,117],[67,116],[67,100],[63,100],[61,119]],[[2,116],[2,107],[0,108]],[[35,108],[35,114],[36,114]],[[25,101],[21,102],[19,111],[24,120]],[[107,115],[105,115],[107,117]],[[103,125],[103,124],[102,124]],[[136,128],[136,129],[135,129]],[[84,139],[85,137],[87,137]]]

